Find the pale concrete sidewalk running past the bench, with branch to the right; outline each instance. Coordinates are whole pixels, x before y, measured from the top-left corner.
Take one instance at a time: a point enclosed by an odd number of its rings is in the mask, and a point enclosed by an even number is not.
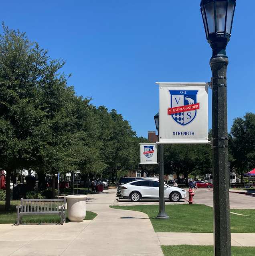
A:
[[[92,221],[0,224],[0,256],[163,256],[160,245],[213,245],[213,233],[155,233],[145,213],[109,208],[115,195],[116,189],[88,195],[87,210],[98,214]],[[254,240],[254,233],[231,234],[233,246]]]

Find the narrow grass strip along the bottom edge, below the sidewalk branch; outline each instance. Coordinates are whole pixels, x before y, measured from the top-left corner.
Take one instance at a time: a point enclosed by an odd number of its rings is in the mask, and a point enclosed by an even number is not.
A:
[[[164,256],[213,256],[213,246],[161,246]],[[232,256],[253,256],[255,247],[231,247]]]

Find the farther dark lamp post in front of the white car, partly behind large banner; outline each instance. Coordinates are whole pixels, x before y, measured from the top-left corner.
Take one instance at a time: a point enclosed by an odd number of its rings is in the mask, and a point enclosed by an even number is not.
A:
[[[159,113],[154,116],[156,128],[158,130],[159,137]],[[159,173],[159,212],[156,219],[169,219],[169,216],[165,211],[165,192],[164,192],[164,152],[163,144],[158,144],[158,173]]]

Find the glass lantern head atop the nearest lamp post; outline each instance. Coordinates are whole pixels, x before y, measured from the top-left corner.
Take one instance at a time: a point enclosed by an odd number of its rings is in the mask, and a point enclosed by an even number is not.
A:
[[[231,36],[236,0],[201,0],[200,7],[206,39],[212,47],[212,58],[225,57]]]

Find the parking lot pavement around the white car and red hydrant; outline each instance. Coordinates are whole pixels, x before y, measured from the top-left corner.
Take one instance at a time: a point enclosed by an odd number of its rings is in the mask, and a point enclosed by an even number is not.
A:
[[[188,188],[185,188],[188,191]],[[229,193],[229,202],[230,209],[255,209],[255,194],[247,195],[245,194],[246,190],[230,190]],[[239,192],[239,193],[234,193]],[[254,191],[253,191],[254,192]],[[252,192],[249,192],[252,193]],[[198,188],[194,193],[193,201],[196,204],[208,205],[210,207],[213,206],[213,191],[208,188]],[[132,202],[128,199],[119,199],[116,197],[113,205],[158,205],[158,200],[140,200],[139,202]],[[174,204],[188,204],[188,193],[187,198],[180,200],[178,203],[170,202],[169,200],[165,200],[166,205],[174,205]]]

